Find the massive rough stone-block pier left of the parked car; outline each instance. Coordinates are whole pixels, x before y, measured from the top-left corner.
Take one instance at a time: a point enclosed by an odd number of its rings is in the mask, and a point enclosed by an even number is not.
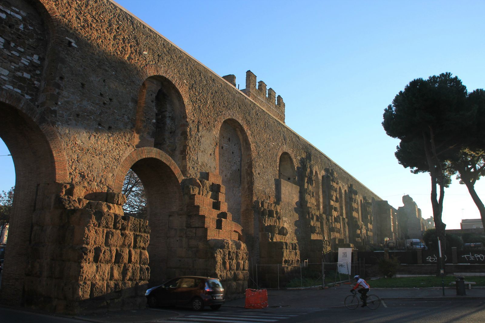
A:
[[[124,216],[124,196],[41,185],[33,214],[25,303],[64,313],[144,308],[148,222]]]

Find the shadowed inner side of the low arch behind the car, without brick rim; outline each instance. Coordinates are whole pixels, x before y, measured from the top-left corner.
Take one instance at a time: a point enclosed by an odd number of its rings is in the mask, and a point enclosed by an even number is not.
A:
[[[133,176],[134,174],[134,176]],[[130,177],[128,179],[127,177]],[[125,177],[125,183],[130,180],[138,183],[140,196],[135,199],[140,205],[129,206],[125,203],[125,215],[146,218],[150,227],[150,242],[147,247],[150,267],[149,286],[160,285],[173,273],[169,272],[169,260],[174,255],[169,253],[169,232],[178,229],[178,219],[181,216],[182,192],[180,183],[174,171],[162,160],[147,157],[135,162]],[[143,197],[142,193],[145,192]],[[143,206],[145,203],[145,206]],[[172,219],[172,221],[171,221]],[[184,226],[181,223],[180,226]],[[172,238],[173,240],[173,238]],[[172,241],[172,243],[174,243]],[[172,246],[173,247],[173,246]]]

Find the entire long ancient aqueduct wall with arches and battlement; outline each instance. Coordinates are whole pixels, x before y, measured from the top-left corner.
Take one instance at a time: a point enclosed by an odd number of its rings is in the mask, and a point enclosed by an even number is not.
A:
[[[16,167],[1,302],[138,308],[180,274],[237,296],[248,259],[380,240],[373,223],[392,208],[288,128],[252,72],[239,91],[108,0],[4,0],[0,31],[0,136]],[[123,215],[129,169],[148,220]]]

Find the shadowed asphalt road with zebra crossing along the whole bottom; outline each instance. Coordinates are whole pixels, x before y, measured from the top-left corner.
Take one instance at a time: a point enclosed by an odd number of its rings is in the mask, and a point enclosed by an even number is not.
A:
[[[314,304],[320,303],[317,300]],[[341,303],[340,303],[341,304]],[[433,299],[433,300],[384,300],[380,308],[356,308],[343,306],[333,308],[305,306],[282,306],[264,309],[245,309],[223,306],[219,310],[205,308],[195,312],[190,308],[160,308],[126,311],[123,318],[114,315],[72,318],[50,316],[30,311],[0,308],[0,322],[35,323],[81,323],[81,322],[158,322],[158,323],[400,323],[400,322],[439,322],[439,323],[478,323],[485,322],[484,299]],[[149,314],[144,316],[144,314]]]

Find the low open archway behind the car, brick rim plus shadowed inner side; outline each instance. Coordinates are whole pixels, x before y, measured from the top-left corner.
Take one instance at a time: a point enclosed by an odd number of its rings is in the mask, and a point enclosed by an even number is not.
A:
[[[162,151],[144,147],[129,154],[118,167],[114,184],[121,192],[123,179],[133,170],[143,183],[147,201],[147,219],[150,243],[147,247],[150,267],[149,286],[160,285],[170,277],[167,274],[171,255],[169,250],[176,243],[178,219],[183,212],[182,175],[175,162]],[[121,184],[121,185],[120,185]],[[183,226],[183,224],[181,224]]]

